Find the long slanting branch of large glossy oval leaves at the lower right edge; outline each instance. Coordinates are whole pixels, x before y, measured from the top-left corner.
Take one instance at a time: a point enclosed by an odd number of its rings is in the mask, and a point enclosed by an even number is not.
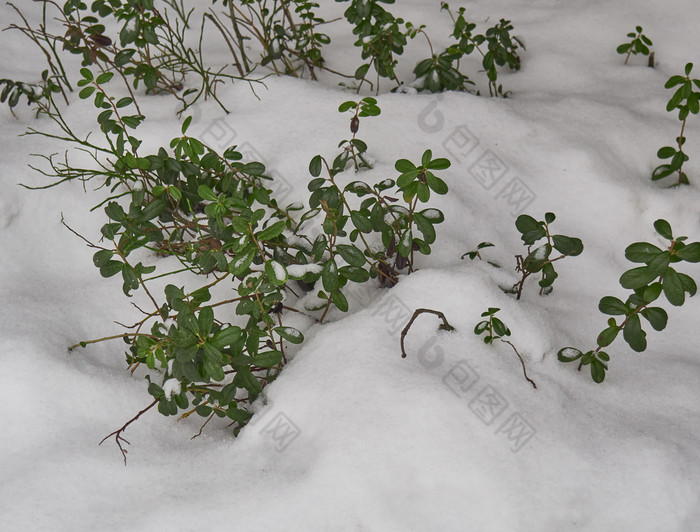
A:
[[[695,281],[671,265],[700,262],[700,242],[686,243],[687,237],[674,237],[666,220],[656,220],[654,229],[668,240],[668,247],[662,249],[649,242],[635,242],[627,246],[627,260],[643,266],[632,268],[620,276],[622,288],[632,290],[626,301],[613,296],[601,298],[599,310],[613,317],[608,319],[608,327],[598,335],[598,347],[586,353],[574,347],[565,347],[557,355],[562,362],[579,360],[579,369],[582,365],[590,365],[591,377],[595,382],[603,382],[610,360],[608,353],[602,349],[612,344],[620,332],[630,348],[642,352],[647,348],[647,334],[642,328],[641,318],[656,331],[666,328],[668,314],[663,308],[652,306],[661,294],[671,305],[681,306],[686,294],[691,297],[697,292]],[[614,316],[620,316],[621,322],[618,323]]]

